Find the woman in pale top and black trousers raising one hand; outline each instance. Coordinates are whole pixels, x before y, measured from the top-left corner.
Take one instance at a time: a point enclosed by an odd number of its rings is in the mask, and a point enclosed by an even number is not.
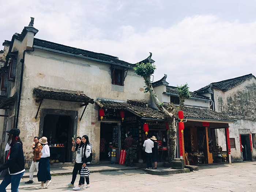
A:
[[[81,137],[76,138],[76,145],[75,145],[75,141],[72,141],[71,151],[73,151],[73,152],[76,151],[76,162],[75,162],[74,169],[72,172],[72,181],[71,181],[71,183],[67,184],[67,187],[74,187],[77,173],[79,172],[79,174],[80,174],[80,172],[81,172],[82,165],[83,165],[83,161],[82,161],[83,145],[84,145],[84,143],[82,142]],[[81,188],[83,188],[84,177],[80,177],[79,185],[81,186]]]

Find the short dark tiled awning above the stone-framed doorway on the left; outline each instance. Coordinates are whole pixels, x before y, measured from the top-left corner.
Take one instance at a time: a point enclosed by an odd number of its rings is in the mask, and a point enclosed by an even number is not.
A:
[[[41,88],[34,88],[33,93],[35,97],[40,99],[71,101],[71,102],[80,102],[80,103],[86,103],[86,104],[94,103],[93,99],[91,99],[90,97],[82,93],[72,93],[72,91],[59,92],[59,91],[51,91],[51,90],[41,89]]]

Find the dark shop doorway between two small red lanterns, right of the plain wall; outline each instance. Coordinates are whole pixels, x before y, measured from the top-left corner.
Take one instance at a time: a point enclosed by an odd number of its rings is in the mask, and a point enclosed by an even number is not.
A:
[[[110,147],[118,147],[118,124],[117,123],[101,123],[100,135],[100,161],[109,161]]]

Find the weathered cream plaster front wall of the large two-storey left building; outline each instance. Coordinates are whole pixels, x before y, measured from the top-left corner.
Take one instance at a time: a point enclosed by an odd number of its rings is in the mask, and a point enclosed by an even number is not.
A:
[[[39,132],[39,119],[35,119],[38,104],[35,103],[33,88],[38,86],[83,91],[87,96],[108,99],[144,99],[150,101],[144,93],[144,80],[132,70],[128,71],[124,82],[124,92],[112,91],[110,65],[75,58],[63,54],[35,49],[25,55],[25,72],[23,78],[22,97],[18,127],[22,131],[24,150],[27,159],[31,157],[31,142]],[[43,108],[74,110],[81,116],[83,107],[80,103],[44,100]],[[95,123],[95,124],[94,124]],[[99,160],[100,122],[98,107],[89,104],[81,120],[78,120],[78,135],[87,134],[95,152],[95,162]]]

